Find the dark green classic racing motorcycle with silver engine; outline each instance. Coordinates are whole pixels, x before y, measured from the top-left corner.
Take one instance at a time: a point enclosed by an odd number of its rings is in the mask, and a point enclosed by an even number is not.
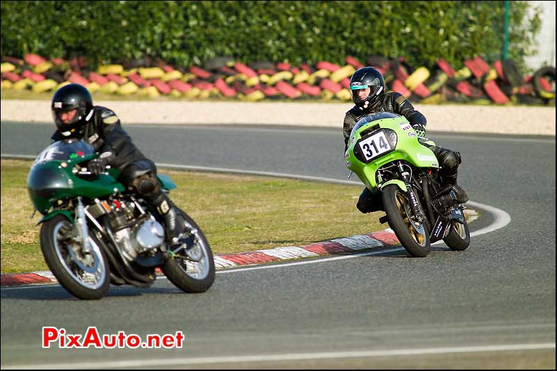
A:
[[[86,141],[58,141],[38,155],[27,177],[33,206],[44,215],[42,255],[58,282],[79,299],[100,299],[111,283],[150,287],[160,268],[185,292],[209,290],[213,255],[195,221],[178,209],[184,230],[179,244],[167,246],[164,217],[116,181],[116,169],[87,170],[98,156]],[[176,187],[167,175],[158,180],[166,192]]]

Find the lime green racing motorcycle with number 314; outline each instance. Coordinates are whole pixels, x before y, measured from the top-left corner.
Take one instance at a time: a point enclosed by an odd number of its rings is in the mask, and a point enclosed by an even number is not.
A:
[[[430,252],[441,239],[455,251],[470,244],[464,205],[438,179],[434,153],[418,138],[408,120],[395,113],[376,113],[354,125],[345,152],[346,166],[372,194],[381,194],[386,216],[398,240],[414,257]]]

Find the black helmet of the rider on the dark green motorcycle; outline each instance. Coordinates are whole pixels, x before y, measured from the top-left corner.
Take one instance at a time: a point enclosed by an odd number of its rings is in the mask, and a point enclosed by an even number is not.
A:
[[[68,84],[56,90],[50,109],[56,127],[63,132],[69,132],[72,129],[79,129],[86,123],[87,116],[93,109],[93,98],[84,86]],[[63,123],[61,114],[72,109],[77,109],[74,118],[68,124]]]

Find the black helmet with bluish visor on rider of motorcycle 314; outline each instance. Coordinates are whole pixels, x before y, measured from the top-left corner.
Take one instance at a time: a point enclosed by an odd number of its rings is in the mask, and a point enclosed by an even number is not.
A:
[[[359,97],[359,90],[369,88],[366,97]],[[372,67],[360,68],[350,79],[350,90],[352,92],[352,102],[360,109],[367,109],[374,106],[385,93],[385,80],[381,72]]]

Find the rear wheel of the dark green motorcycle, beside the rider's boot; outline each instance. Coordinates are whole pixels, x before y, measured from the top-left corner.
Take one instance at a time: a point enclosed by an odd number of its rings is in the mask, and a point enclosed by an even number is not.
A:
[[[209,242],[197,226],[182,210],[179,210],[185,220],[185,230],[182,248],[173,248],[177,256],[168,259],[161,268],[176,287],[185,292],[205,292],[214,282],[214,260]],[[182,258],[187,256],[186,258]]]

